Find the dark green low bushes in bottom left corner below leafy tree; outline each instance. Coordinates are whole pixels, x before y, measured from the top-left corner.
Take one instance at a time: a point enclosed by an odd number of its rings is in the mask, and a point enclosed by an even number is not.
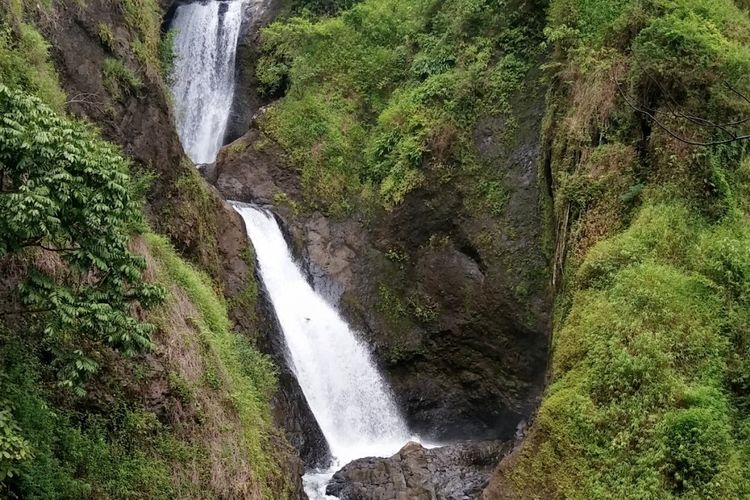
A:
[[[139,412],[126,411],[120,426],[123,402],[117,398],[106,415],[61,407],[41,379],[45,368],[29,352],[29,339],[2,335],[0,391],[26,453],[12,477],[0,480],[0,492],[49,499],[172,496],[169,469],[152,453],[153,434],[134,423],[142,420]]]

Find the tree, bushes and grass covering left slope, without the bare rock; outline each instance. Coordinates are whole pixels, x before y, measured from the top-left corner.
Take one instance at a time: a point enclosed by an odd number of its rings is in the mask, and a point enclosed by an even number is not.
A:
[[[12,4],[0,37],[0,497],[286,495],[273,366],[232,333],[205,276],[162,238],[143,242],[147,179],[62,115],[47,44]],[[146,83],[116,58],[113,33],[99,25],[113,56],[102,72],[123,97]]]

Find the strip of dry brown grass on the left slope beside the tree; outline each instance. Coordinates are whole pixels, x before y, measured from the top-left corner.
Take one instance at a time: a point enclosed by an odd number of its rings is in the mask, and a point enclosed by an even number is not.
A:
[[[131,249],[147,262],[144,274],[156,280],[162,270],[142,238]],[[161,365],[159,385],[170,378],[181,381],[190,397],[174,397],[166,405],[167,419],[176,437],[190,446],[191,456],[172,463],[172,479],[179,498],[262,499],[260,485],[243,447],[240,418],[232,403],[232,381],[215,352],[201,340],[194,318],[199,311],[180,287],[173,285],[168,302],[151,313],[158,325],[154,358]],[[216,381],[211,384],[210,377]],[[213,387],[212,387],[213,385]],[[173,391],[167,389],[167,392]]]

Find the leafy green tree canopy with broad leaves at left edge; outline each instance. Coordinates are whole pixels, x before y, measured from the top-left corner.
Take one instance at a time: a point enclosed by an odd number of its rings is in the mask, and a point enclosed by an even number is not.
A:
[[[18,312],[41,315],[61,382],[78,389],[98,346],[149,347],[152,327],[133,308],[164,295],[142,282],[145,262],[128,249],[142,226],[128,168],[89,127],[0,86],[0,258],[33,263]]]

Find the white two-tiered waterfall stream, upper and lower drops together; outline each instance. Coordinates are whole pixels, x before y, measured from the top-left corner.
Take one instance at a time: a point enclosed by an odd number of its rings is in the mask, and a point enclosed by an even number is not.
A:
[[[234,97],[234,68],[244,0],[177,8],[174,103],[183,147],[196,164],[213,163]],[[387,457],[409,432],[367,347],[305,279],[273,216],[235,204],[255,247],[289,350],[289,365],[333,455],[326,470],[303,478],[311,500],[331,498],[333,473],[367,456]]]

